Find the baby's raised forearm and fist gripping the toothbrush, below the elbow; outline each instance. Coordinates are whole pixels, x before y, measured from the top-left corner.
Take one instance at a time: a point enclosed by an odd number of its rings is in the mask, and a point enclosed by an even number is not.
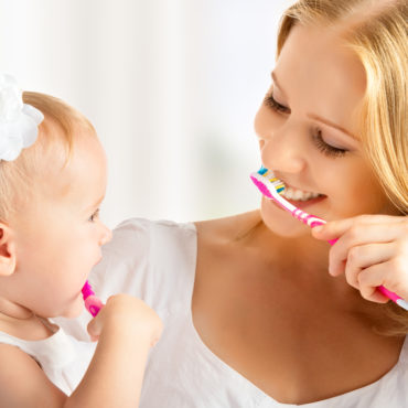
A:
[[[88,325],[98,345],[66,407],[137,407],[148,353],[161,328],[159,316],[141,300],[109,298]]]

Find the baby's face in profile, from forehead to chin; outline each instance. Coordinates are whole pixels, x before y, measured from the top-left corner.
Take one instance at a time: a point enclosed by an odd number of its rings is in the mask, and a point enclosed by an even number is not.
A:
[[[65,168],[62,160],[44,160],[47,175],[15,227],[21,304],[47,318],[80,313],[80,289],[110,239],[98,217],[105,152],[88,130],[78,131],[84,135],[75,139]]]

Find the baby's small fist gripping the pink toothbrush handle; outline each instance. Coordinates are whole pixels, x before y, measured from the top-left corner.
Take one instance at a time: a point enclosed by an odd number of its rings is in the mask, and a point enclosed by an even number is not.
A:
[[[162,322],[153,309],[129,294],[115,294],[108,299],[88,324],[93,341],[109,332],[112,335],[135,336],[138,342],[146,341],[153,346],[160,339]]]

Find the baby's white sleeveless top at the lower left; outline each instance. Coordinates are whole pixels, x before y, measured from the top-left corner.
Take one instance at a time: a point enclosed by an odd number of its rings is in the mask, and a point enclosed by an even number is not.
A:
[[[14,345],[31,355],[49,379],[66,395],[80,382],[95,350],[95,344],[77,341],[62,328],[52,336],[39,341],[25,341],[0,332],[0,343]]]

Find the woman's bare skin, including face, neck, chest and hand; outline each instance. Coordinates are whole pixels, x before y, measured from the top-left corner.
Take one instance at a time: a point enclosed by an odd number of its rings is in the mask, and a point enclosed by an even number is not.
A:
[[[339,39],[296,26],[273,73],[268,96],[280,108],[267,100],[255,119],[262,163],[287,185],[322,194],[297,205],[329,223],[312,235],[265,198],[259,211],[197,223],[192,310],[219,358],[276,400],[300,405],[368,385],[397,363],[404,337],[373,330],[388,322],[386,299],[373,293],[384,283],[408,294],[408,235],[358,140],[357,58]]]

